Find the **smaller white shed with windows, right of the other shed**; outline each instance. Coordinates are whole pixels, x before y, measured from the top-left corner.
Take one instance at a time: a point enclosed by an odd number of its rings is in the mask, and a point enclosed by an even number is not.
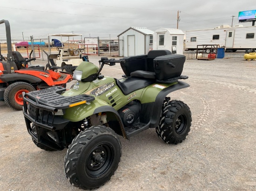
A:
[[[169,50],[183,54],[184,32],[180,29],[160,28],[153,34],[153,50]]]

